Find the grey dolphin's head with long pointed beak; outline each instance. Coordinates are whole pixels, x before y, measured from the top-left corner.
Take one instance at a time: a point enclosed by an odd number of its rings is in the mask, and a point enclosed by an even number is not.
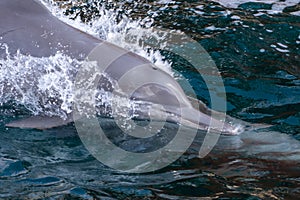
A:
[[[188,97],[170,74],[151,63],[127,71],[118,84],[131,100],[143,102],[135,110],[136,118],[163,120],[225,134],[241,131],[241,126],[224,123],[226,114],[211,111],[201,101]]]

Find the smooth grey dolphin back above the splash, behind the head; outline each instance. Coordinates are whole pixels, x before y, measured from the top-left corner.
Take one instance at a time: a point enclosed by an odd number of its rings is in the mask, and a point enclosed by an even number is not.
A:
[[[61,51],[83,59],[101,42],[66,25],[35,0],[0,1],[0,43],[9,47],[10,54],[20,50],[25,55],[47,57]],[[3,49],[0,56],[5,56]]]

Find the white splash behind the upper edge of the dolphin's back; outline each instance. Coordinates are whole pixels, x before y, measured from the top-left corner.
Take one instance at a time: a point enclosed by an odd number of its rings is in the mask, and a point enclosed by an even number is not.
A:
[[[110,8],[105,2],[101,2],[95,5],[97,15],[93,15],[88,23],[84,23],[80,15],[76,12],[66,16],[63,9],[60,9],[55,1],[41,0],[41,2],[54,16],[66,24],[132,51],[150,60],[157,67],[174,76],[171,63],[165,61],[164,56],[161,55],[159,50],[151,49],[149,45],[142,42],[145,38],[151,37],[155,37],[157,41],[164,40],[164,38],[156,35],[151,30],[153,19],[146,17],[144,19],[133,20],[127,14],[120,13],[120,10],[123,9]],[[69,0],[65,1],[64,4],[72,5],[73,2]],[[128,9],[126,12],[130,13],[131,10]],[[161,42],[157,45],[160,46],[160,49],[163,49],[165,43]]]

